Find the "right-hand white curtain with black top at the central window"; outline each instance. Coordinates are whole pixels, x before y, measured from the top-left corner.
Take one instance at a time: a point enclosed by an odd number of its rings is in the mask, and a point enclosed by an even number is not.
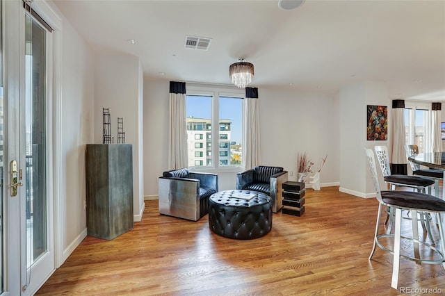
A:
[[[260,164],[258,88],[245,88],[244,120],[243,158],[245,169],[248,170]]]

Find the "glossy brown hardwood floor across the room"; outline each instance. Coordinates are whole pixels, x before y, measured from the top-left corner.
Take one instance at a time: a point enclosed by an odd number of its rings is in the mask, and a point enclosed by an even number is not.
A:
[[[87,237],[36,295],[425,294],[414,290],[419,288],[445,293],[442,265],[401,258],[395,290],[392,255],[377,247],[368,261],[375,199],[337,187],[308,189],[305,198],[302,217],[273,214],[272,231],[255,240],[220,237],[209,229],[207,215],[198,222],[159,215],[157,201],[146,201],[134,229],[110,241]],[[403,222],[408,235],[410,223]],[[439,240],[437,227],[432,229]],[[410,249],[403,241],[403,251]]]

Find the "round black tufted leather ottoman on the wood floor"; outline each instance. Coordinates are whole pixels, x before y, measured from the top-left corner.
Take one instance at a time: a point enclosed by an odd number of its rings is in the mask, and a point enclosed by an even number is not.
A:
[[[250,190],[216,192],[209,198],[209,227],[225,238],[266,236],[272,229],[272,198]]]

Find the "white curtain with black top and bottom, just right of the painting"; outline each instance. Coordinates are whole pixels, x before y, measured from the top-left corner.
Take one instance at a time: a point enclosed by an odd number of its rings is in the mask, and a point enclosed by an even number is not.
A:
[[[405,100],[392,101],[393,113],[393,138],[392,138],[392,163],[391,174],[407,174],[405,154]]]

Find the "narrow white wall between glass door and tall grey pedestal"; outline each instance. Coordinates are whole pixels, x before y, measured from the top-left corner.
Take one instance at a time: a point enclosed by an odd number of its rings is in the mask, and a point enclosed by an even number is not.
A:
[[[86,236],[85,145],[93,141],[95,114],[93,55],[63,20],[62,41],[62,172],[63,261]]]

